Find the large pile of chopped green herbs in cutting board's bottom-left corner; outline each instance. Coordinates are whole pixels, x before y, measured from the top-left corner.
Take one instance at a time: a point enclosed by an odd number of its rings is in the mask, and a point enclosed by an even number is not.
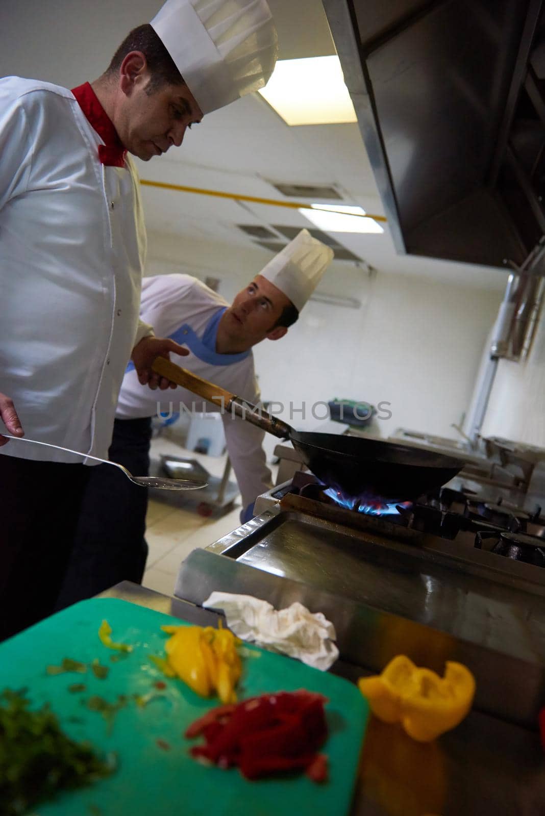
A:
[[[113,772],[89,743],[76,743],[60,729],[47,705],[29,711],[25,690],[0,694],[0,802],[2,816],[22,816],[57,792],[83,787]]]

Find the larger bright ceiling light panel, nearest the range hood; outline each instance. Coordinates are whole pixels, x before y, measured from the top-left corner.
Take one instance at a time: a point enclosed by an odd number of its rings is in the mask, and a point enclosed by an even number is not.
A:
[[[288,125],[357,122],[336,55],[279,60],[259,93]]]

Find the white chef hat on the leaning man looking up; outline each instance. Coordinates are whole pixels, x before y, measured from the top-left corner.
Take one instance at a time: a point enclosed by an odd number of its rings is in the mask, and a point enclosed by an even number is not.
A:
[[[330,246],[302,229],[259,274],[284,292],[300,312],[334,255]]]

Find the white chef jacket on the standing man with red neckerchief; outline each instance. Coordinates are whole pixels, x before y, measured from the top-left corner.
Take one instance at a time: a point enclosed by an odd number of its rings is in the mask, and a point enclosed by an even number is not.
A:
[[[0,79],[0,391],[29,439],[107,459],[126,363],[153,331],[135,166],[104,166],[99,144],[66,88]],[[0,454],[82,461],[17,441]]]

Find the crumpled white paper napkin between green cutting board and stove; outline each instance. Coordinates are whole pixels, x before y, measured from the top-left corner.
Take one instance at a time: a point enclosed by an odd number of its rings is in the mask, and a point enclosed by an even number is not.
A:
[[[275,610],[267,601],[233,592],[212,592],[202,604],[223,610],[228,628],[242,641],[288,654],[322,672],[335,663],[339,650],[335,627],[321,612],[309,612],[299,602]]]

